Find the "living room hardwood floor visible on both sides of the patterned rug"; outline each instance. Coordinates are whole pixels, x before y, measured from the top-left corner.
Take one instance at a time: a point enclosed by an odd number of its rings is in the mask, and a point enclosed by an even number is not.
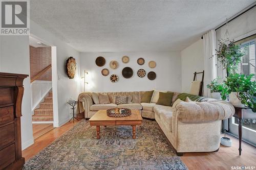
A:
[[[78,121],[66,123],[62,127],[55,128],[50,132],[35,139],[35,143],[23,151],[25,160],[30,159],[39,151],[51,144],[59,136],[70,130]],[[218,152],[212,153],[185,153],[182,161],[188,169],[231,169],[231,166],[255,166],[256,169],[256,148],[242,142],[242,155],[238,152],[238,139],[228,136],[232,139],[232,147],[221,145]]]

